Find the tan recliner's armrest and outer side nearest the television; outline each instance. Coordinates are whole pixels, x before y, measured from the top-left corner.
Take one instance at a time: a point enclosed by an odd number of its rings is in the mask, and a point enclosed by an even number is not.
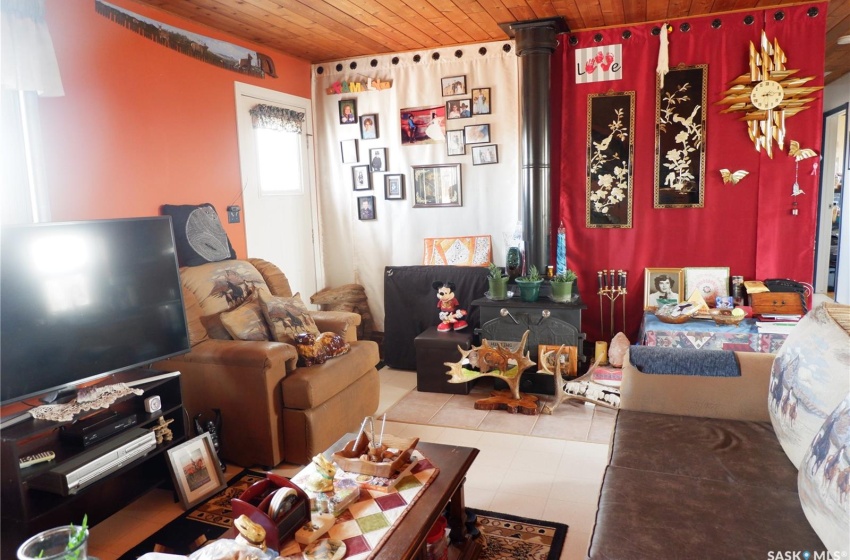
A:
[[[180,371],[190,418],[221,410],[224,459],[271,467],[284,456],[281,381],[297,359],[295,348],[280,342],[207,340],[154,367]]]

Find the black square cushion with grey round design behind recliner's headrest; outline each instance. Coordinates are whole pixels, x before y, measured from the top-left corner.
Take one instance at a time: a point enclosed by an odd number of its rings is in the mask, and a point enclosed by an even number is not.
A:
[[[163,204],[161,211],[171,216],[180,266],[198,266],[236,258],[236,251],[212,204]]]

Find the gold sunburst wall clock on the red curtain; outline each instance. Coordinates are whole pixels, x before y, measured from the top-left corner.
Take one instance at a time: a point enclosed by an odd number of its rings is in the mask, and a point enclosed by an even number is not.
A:
[[[823,86],[805,84],[814,76],[796,77],[800,70],[785,67],[787,57],[774,38],[771,43],[761,32],[759,48],[750,41],[750,71],[729,82],[718,105],[728,105],[721,113],[743,112],[739,119],[747,123],[747,131],[756,151],[764,148],[773,157],[773,142],[785,146],[785,120],[808,109],[815,100],[812,94]]]

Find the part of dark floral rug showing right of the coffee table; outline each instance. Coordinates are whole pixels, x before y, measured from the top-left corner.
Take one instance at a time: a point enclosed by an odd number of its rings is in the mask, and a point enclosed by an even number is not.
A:
[[[538,521],[506,513],[469,508],[476,516],[476,527],[484,549],[479,558],[486,560],[558,560],[567,539],[568,527],[554,521]]]

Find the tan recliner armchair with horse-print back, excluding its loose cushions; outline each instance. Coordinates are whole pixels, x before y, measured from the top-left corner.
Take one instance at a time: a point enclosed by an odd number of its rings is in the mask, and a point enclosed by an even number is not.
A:
[[[378,408],[378,345],[357,341],[360,316],[310,311],[321,332],[333,331],[351,350],[321,365],[298,367],[294,346],[233,340],[222,311],[249,291],[268,288],[291,297],[281,270],[262,259],[227,260],[180,269],[192,349],[154,364],[180,371],[190,417],[221,410],[222,458],[241,466],[307,464]]]

